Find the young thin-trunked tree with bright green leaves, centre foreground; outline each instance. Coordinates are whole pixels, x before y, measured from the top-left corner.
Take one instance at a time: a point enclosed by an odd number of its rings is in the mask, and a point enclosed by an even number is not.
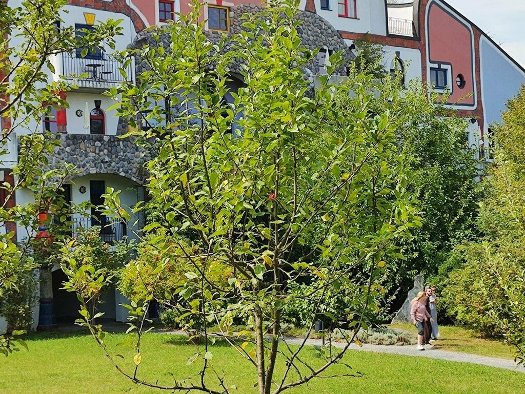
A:
[[[342,86],[330,83],[341,66],[339,54],[331,56],[327,76],[313,90],[304,68],[316,52],[301,45],[297,12],[298,2],[270,2],[247,17],[244,33],[214,44],[204,24],[195,22],[200,14],[194,5],[190,15],[153,31],[157,42],[168,41],[166,47],[133,52],[148,69],[138,86],[121,87],[127,93],[118,111],[132,126],[140,124],[132,134],[156,154],[148,163],[151,200],[135,208],[151,212],[144,228],[149,236],[142,237],[139,259],[124,269],[138,278],[129,291],[132,359],[111,352],[89,314],[86,301],[106,285],[102,275],[77,261],[66,270],[69,290],[82,300],[79,324],[137,384],[234,389],[214,363],[212,324],[253,367],[259,394],[330,377],[330,366],[342,362],[359,328],[375,321],[390,269],[385,260],[400,256],[398,243],[419,223],[388,97],[382,97],[383,107],[370,108],[379,102],[369,89],[373,77],[355,68]],[[233,59],[243,65],[236,70],[243,79],[237,91],[228,88]],[[233,103],[225,103],[227,93]],[[106,195],[106,209],[130,220],[114,190]],[[152,251],[156,258],[144,264],[140,253]],[[177,281],[167,272],[179,264],[187,269]],[[315,285],[297,294],[289,291],[296,282]],[[341,313],[327,307],[327,296],[343,287],[349,296]],[[343,349],[326,334],[318,365],[305,365],[301,357],[306,339],[291,347],[283,335],[284,306],[293,297],[313,305],[308,333],[320,316],[333,325],[342,318],[352,329]],[[141,339],[152,300],[194,316],[186,325],[196,332],[197,348],[188,360],[201,366],[196,378],[182,380],[182,368],[171,382],[141,376],[147,360]],[[246,331],[232,333],[236,319],[247,323]]]

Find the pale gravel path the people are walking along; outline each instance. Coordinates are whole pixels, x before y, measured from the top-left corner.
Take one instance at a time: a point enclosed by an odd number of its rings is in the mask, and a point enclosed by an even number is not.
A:
[[[302,343],[302,340],[303,339],[301,338],[287,338],[286,342],[288,344],[299,345]],[[308,339],[307,344],[311,346],[314,346],[314,345],[321,346],[322,342],[320,339]],[[345,344],[336,342],[334,343],[334,346],[342,348],[345,346]],[[510,369],[512,371],[517,371],[517,372],[525,372],[525,367],[517,366],[513,360],[507,360],[504,358],[478,356],[475,354],[468,354],[468,353],[449,352],[448,350],[440,350],[437,348],[417,350],[415,346],[386,346],[386,345],[363,344],[363,346],[360,347],[356,344],[351,344],[349,349],[358,350],[361,352],[390,353],[390,354],[401,354],[405,356],[437,358],[440,360],[456,361],[458,363],[487,365],[489,367]]]

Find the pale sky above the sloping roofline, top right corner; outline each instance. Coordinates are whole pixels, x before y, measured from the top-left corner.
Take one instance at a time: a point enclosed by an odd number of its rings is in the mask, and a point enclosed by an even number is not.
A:
[[[525,67],[525,1],[445,0]]]

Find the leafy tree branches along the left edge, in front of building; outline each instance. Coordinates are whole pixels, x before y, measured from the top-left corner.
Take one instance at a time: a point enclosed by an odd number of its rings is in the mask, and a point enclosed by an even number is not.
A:
[[[21,133],[24,135],[18,136],[19,154],[12,168],[13,182],[0,185],[5,196],[0,206],[0,223],[6,230],[0,235],[0,305],[5,304],[4,310],[12,306],[13,297],[22,292],[21,284],[28,284],[34,276],[33,270],[43,268],[30,255],[39,214],[47,211],[59,214],[64,209],[60,191],[65,179],[75,171],[75,166],[67,164],[46,171],[47,155],[53,152],[57,142],[49,133],[41,132],[40,127],[30,129],[33,120],[40,125],[49,106],[67,105],[62,92],[70,89],[69,84],[48,80],[48,74],[55,71],[51,57],[76,48],[87,50],[93,45],[102,46],[104,42],[112,47],[112,37],[120,31],[118,22],[113,20],[99,24],[94,31],[86,31],[82,37],[75,36],[73,27],[58,29],[51,22],[56,21],[57,25],[63,22],[59,15],[66,0],[23,0],[15,6],[12,4],[0,2],[0,118],[7,120],[2,122],[0,155],[7,153],[4,144],[17,138],[17,130],[24,130]],[[35,203],[11,206],[10,199],[22,188],[33,194]],[[15,224],[27,231],[26,242],[18,246],[14,232],[9,231]],[[29,302],[27,297],[25,301]],[[11,327],[19,334],[16,328]],[[16,345],[9,335],[1,336],[0,341],[5,354]]]

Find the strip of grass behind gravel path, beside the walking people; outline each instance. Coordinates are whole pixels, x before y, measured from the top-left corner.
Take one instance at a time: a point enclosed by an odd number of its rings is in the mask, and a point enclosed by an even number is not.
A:
[[[415,332],[412,324],[393,324],[388,327]],[[514,359],[513,349],[498,340],[478,337],[473,331],[458,326],[439,326],[439,340],[434,341],[436,349],[452,350],[480,356]]]

